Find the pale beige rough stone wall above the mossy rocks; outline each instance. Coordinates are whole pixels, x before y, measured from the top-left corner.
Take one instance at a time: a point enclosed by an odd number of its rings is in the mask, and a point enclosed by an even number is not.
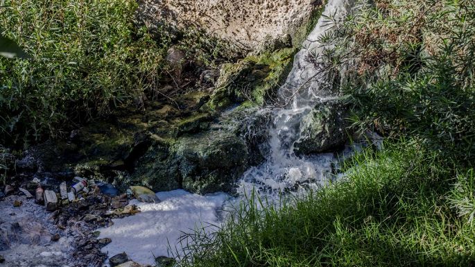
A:
[[[141,0],[139,17],[148,27],[166,21],[183,29],[196,25],[242,51],[261,49],[295,33],[321,0]]]

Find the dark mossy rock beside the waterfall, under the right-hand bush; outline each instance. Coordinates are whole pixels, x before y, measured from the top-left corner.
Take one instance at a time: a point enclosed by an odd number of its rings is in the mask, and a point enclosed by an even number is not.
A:
[[[320,153],[343,146],[347,140],[344,114],[338,100],[318,103],[300,122],[302,137],[295,144],[295,152]]]

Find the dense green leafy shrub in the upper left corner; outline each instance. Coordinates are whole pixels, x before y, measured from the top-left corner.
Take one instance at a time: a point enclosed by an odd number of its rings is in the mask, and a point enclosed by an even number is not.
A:
[[[1,35],[31,55],[0,58],[0,142],[57,137],[128,105],[161,74],[157,44],[132,19],[133,0],[1,0]]]

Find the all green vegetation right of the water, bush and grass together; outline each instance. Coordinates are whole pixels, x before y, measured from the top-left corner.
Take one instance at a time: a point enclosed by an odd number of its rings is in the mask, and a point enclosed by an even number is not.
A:
[[[475,264],[475,3],[360,8],[328,18],[335,31],[321,41],[335,46],[316,60],[346,70],[335,86],[351,128],[380,132],[383,149],[347,160],[343,180],[306,198],[243,203],[216,234],[191,235],[181,266]]]

